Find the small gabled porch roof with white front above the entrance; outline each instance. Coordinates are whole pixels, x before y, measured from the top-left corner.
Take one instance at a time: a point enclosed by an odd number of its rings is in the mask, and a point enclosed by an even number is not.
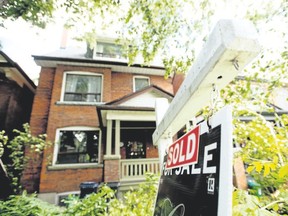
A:
[[[173,95],[158,86],[151,85],[122,98],[97,106],[100,127],[105,127],[107,119],[121,121],[155,121],[155,99]]]

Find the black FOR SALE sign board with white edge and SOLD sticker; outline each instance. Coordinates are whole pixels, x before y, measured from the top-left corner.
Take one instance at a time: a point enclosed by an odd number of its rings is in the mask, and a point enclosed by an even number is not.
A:
[[[231,215],[232,145],[230,107],[171,144],[154,216]]]

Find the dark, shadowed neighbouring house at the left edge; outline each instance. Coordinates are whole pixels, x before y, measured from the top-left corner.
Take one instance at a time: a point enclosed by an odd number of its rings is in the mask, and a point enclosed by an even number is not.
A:
[[[0,131],[9,139],[14,129],[21,130],[30,120],[36,86],[23,69],[5,52],[0,51]],[[0,199],[12,193],[3,163],[9,161],[9,150],[0,156]],[[2,163],[2,161],[3,163]]]

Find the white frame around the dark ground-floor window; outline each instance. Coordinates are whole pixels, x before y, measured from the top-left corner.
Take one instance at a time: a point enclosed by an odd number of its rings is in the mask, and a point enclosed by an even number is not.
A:
[[[98,144],[98,163],[71,163],[71,164],[56,164],[57,161],[57,156],[58,156],[58,150],[59,150],[59,136],[60,136],[60,131],[65,130],[65,131],[99,131],[99,144]],[[54,152],[53,152],[53,160],[52,160],[52,166],[55,167],[69,167],[69,166],[89,166],[89,165],[98,165],[101,163],[101,145],[102,145],[102,131],[100,128],[97,127],[87,127],[87,126],[72,126],[72,127],[63,127],[63,128],[57,128],[56,129],[56,134],[55,134],[55,144],[54,144]]]

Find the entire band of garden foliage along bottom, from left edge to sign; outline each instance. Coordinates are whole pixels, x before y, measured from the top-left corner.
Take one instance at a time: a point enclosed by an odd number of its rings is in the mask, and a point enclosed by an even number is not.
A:
[[[0,201],[0,212],[5,215],[77,215],[77,216],[103,216],[152,215],[156,199],[158,177],[154,174],[146,175],[146,182],[138,189],[125,193],[123,199],[117,199],[115,191],[107,185],[100,186],[97,193],[87,195],[83,199],[70,196],[65,201],[66,208],[41,201],[35,194],[10,196],[6,201]],[[21,206],[21,208],[19,208]]]

